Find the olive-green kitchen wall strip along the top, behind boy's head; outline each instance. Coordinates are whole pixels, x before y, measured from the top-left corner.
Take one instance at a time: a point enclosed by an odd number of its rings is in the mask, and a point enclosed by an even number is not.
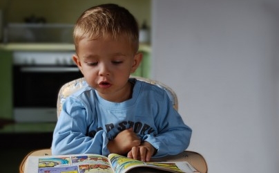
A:
[[[44,18],[47,23],[51,24],[75,24],[75,21],[84,10],[101,3],[117,3],[130,10],[140,24],[144,21],[146,21],[148,25],[151,24],[150,0],[3,0],[0,2],[0,7],[4,15],[3,21],[6,23],[21,23],[25,22],[26,18],[34,16]]]

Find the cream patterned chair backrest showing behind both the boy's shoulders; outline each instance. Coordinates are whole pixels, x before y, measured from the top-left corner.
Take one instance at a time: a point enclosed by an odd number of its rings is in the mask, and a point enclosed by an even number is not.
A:
[[[158,82],[156,80],[151,80],[148,78],[142,78],[138,76],[131,75],[130,78],[136,78],[137,80],[141,80],[144,82],[148,82],[150,84],[155,84],[156,86],[159,86],[160,88],[164,89],[166,93],[169,95],[169,98],[171,102],[173,103],[173,107],[178,110],[178,101],[177,101],[177,95],[175,94],[175,91],[171,89],[169,86],[166,86],[166,84],[163,84],[162,82]],[[70,82],[67,82],[63,86],[61,86],[59,93],[58,93],[58,99],[57,99],[57,118],[59,118],[60,111],[62,108],[62,105],[65,101],[65,99],[75,91],[83,88],[86,86],[86,80],[84,78],[79,78]]]

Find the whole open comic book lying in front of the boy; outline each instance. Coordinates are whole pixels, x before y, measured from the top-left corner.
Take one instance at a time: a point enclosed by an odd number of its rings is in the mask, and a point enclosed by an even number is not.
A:
[[[28,156],[25,173],[85,173],[85,172],[198,172],[186,161],[142,162],[118,154],[108,157],[99,154],[59,156]]]

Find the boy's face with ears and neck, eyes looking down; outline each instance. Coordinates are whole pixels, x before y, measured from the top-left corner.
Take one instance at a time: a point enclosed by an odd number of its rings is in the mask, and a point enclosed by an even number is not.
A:
[[[78,55],[73,60],[83,73],[86,82],[96,89],[102,98],[112,102],[123,102],[131,95],[128,78],[142,60],[135,54],[131,44],[120,37],[117,40],[82,39]]]

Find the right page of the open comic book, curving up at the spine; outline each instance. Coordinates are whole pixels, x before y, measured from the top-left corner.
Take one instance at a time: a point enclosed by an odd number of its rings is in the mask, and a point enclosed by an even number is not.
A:
[[[117,173],[124,172],[151,172],[156,170],[164,170],[166,172],[198,172],[188,162],[142,162],[132,158],[126,158],[118,154],[108,155],[113,170]],[[140,167],[140,168],[139,168]],[[136,169],[135,169],[136,168]],[[151,169],[148,169],[151,168]],[[132,170],[133,169],[133,170]],[[162,172],[162,171],[161,171]]]

